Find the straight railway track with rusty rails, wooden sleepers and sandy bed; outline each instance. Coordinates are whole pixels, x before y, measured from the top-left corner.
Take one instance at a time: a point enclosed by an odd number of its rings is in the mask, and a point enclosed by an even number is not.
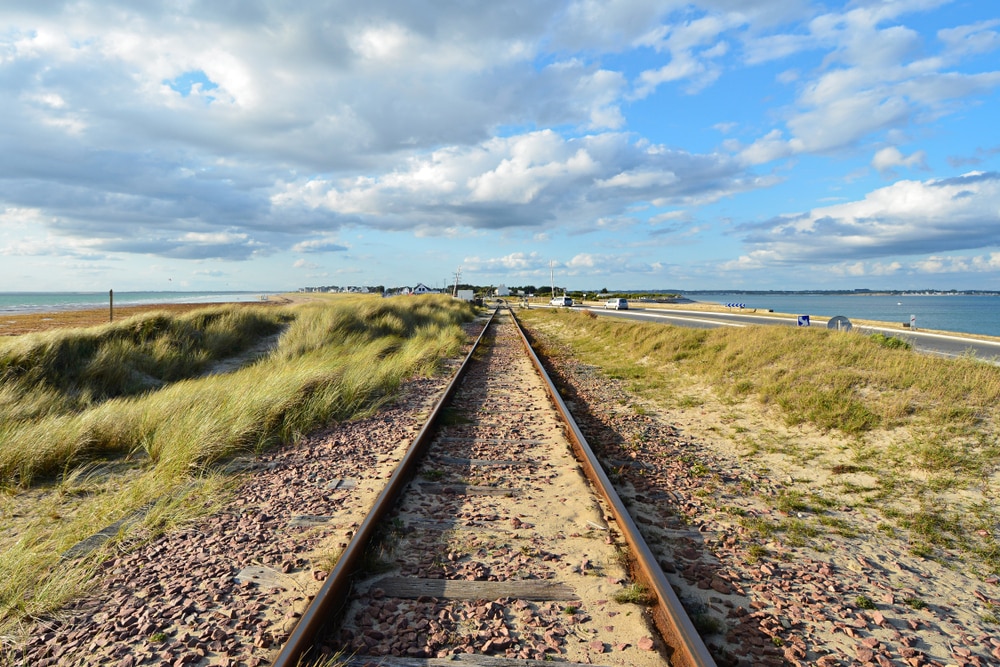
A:
[[[323,660],[714,665],[509,311],[274,664]]]

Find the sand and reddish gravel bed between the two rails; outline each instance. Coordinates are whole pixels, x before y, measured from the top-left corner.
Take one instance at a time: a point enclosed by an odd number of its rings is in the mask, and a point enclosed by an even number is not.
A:
[[[518,597],[512,593],[478,602],[447,595],[405,599],[383,595],[386,575],[378,574],[357,584],[361,594],[334,648],[359,657],[474,652],[666,667],[641,607],[615,599],[626,590],[627,573],[617,533],[605,521],[610,511],[573,459],[509,317],[499,317],[495,345],[470,369],[451,404],[461,419],[437,433],[385,522],[399,533],[389,540],[387,560],[395,567],[389,579],[495,582],[504,591],[502,584],[544,581],[571,595],[544,602],[512,599]],[[377,657],[371,662],[380,664]]]

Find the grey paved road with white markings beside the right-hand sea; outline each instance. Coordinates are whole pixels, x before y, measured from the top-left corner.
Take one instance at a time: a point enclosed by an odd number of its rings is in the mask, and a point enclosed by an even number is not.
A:
[[[661,310],[657,308],[643,308],[630,304],[630,310],[606,310],[601,306],[584,306],[598,315],[609,317],[622,317],[634,320],[661,322],[664,324],[674,324],[684,327],[695,327],[699,329],[715,329],[717,327],[744,327],[751,324],[771,324],[776,326],[798,326],[798,320],[794,316],[787,318],[764,317],[753,314],[738,313],[707,313],[700,310]],[[812,326],[825,327],[827,320],[824,318],[812,318]],[[945,357],[959,357],[966,354],[974,354],[978,359],[1000,363],[1000,342],[980,340],[978,338],[966,338],[962,334],[940,334],[924,331],[900,331],[899,329],[889,329],[881,327],[859,326],[855,327],[863,333],[874,333],[881,331],[886,335],[903,338],[909,341],[915,350],[928,354],[938,354]]]

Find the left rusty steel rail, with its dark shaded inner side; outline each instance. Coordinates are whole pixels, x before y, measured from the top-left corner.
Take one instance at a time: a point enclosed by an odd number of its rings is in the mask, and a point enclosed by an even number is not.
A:
[[[420,459],[423,457],[432,440],[441,412],[458,389],[458,384],[469,367],[472,355],[475,354],[483,338],[486,336],[486,332],[492,326],[498,310],[494,309],[492,315],[490,315],[489,321],[483,327],[472,349],[469,350],[462,365],[455,371],[440,400],[434,406],[420,432],[407,448],[403,458],[400,459],[399,465],[396,466],[385,488],[382,489],[378,498],[375,499],[375,503],[372,505],[368,516],[365,517],[364,521],[358,527],[357,532],[344,549],[343,554],[341,554],[340,559],[316,594],[316,597],[302,614],[302,618],[299,619],[292,634],[289,635],[288,641],[285,642],[278,657],[272,663],[273,667],[298,667],[301,664],[302,658],[306,657],[309,649],[315,644],[319,632],[323,630],[324,626],[332,618],[343,611],[348,595],[351,592],[354,574],[358,569],[358,563],[364,556],[368,542],[375,534],[378,524],[389,510],[392,509],[396,500],[402,494],[406,483],[413,477]]]

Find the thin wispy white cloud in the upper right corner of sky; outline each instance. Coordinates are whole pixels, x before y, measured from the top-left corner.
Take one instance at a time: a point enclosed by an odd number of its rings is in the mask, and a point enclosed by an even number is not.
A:
[[[785,114],[787,138],[781,130],[769,131],[744,148],[744,161],[762,164],[794,154],[842,150],[866,137],[951,113],[956,102],[1000,86],[1000,70],[969,73],[958,68],[965,57],[1000,48],[992,30],[997,22],[939,31],[933,53],[916,31],[885,25],[941,4],[911,0],[861,6],[815,17],[808,34],[750,40],[750,63],[805,50],[829,54],[817,71],[799,81],[797,98]]]

